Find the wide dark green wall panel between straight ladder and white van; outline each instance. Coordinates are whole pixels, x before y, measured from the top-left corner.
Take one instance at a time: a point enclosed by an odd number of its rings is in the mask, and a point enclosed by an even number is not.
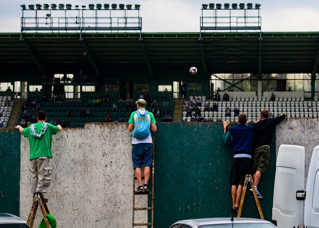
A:
[[[234,125],[234,124],[233,124]],[[169,227],[178,220],[230,217],[229,175],[231,146],[222,141],[222,123],[158,123],[155,133],[154,227]],[[258,189],[266,220],[271,220],[276,151]],[[247,192],[244,217],[259,218]]]

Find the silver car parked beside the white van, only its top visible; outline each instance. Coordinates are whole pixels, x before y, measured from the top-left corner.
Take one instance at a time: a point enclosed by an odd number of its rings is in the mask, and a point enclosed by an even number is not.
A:
[[[276,228],[274,224],[257,218],[198,218],[181,220],[170,228]]]

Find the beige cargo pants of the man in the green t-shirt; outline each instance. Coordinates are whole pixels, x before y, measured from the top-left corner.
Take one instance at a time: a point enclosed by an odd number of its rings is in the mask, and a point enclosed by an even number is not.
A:
[[[41,192],[47,193],[51,182],[51,158],[38,157],[31,161],[30,183],[31,193]]]

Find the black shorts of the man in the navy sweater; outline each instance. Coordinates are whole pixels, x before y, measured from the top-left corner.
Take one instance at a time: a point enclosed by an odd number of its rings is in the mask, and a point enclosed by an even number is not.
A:
[[[245,182],[246,175],[249,174],[253,174],[253,160],[251,158],[233,158],[229,184],[243,184]]]

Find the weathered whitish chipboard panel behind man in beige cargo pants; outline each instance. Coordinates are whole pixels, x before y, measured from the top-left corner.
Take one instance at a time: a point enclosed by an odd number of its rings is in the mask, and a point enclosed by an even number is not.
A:
[[[83,227],[84,220],[84,139],[83,128],[63,129],[53,136],[52,182],[45,196],[48,208],[59,227]],[[27,219],[32,195],[30,193],[30,147],[21,137],[20,216]],[[40,223],[38,210],[34,226]]]

